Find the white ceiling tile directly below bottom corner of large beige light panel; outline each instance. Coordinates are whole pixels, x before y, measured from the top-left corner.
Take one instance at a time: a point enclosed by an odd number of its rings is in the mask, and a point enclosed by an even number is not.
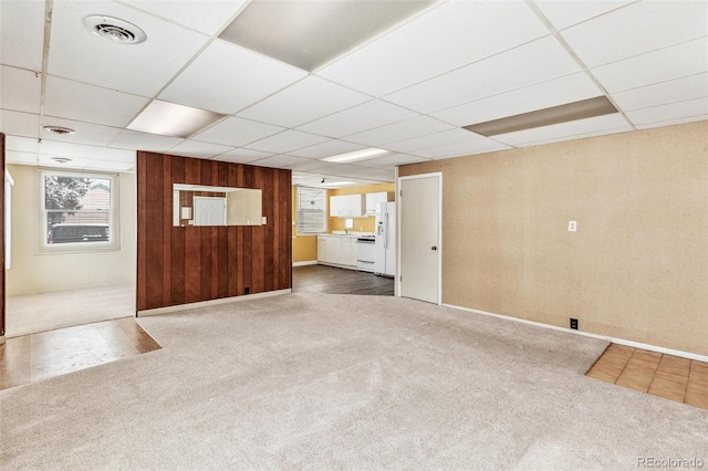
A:
[[[283,127],[295,127],[369,100],[369,96],[362,93],[316,76],[309,76],[239,113],[239,116]]]

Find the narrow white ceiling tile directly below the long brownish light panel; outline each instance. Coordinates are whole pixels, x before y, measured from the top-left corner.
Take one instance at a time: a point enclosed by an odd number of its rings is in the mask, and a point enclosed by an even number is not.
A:
[[[551,126],[517,130],[514,133],[493,136],[494,140],[510,146],[525,146],[538,143],[551,143],[582,138],[589,135],[612,134],[632,130],[632,127],[618,113],[577,119]]]

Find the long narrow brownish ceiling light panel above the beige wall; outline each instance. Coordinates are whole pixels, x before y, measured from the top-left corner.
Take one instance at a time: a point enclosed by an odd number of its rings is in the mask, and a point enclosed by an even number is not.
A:
[[[611,113],[617,113],[617,108],[615,108],[606,96],[596,96],[594,98],[566,103],[565,105],[538,109],[535,112],[523,113],[516,116],[470,124],[469,126],[465,126],[465,129],[489,137],[517,130],[531,129],[534,127],[550,126],[552,124],[585,119]]]

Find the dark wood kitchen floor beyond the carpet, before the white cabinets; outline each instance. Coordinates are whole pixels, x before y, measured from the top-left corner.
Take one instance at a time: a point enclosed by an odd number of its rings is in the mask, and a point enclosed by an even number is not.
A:
[[[293,293],[393,296],[394,279],[326,265],[293,266],[292,291]]]

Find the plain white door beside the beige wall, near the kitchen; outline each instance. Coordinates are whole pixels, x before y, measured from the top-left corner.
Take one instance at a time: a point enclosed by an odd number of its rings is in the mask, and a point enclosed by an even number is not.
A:
[[[440,175],[400,179],[400,295],[440,303]]]

